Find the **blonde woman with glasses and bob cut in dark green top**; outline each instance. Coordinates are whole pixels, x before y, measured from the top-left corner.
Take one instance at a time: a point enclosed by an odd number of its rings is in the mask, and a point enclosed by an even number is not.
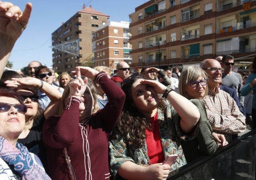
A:
[[[179,93],[191,100],[201,114],[196,138],[191,141],[180,141],[187,162],[214,153],[218,148],[216,142],[221,143],[220,146],[228,145],[224,135],[212,132],[205,106],[201,102],[208,93],[207,82],[205,71],[195,66],[183,69],[179,77]]]

